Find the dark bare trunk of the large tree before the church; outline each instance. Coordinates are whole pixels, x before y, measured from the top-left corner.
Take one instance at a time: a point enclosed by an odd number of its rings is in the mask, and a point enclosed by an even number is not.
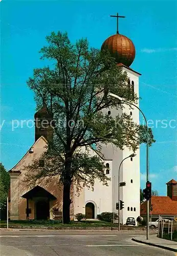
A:
[[[65,157],[65,170],[63,175],[63,223],[70,223],[70,189],[71,189],[71,156]]]

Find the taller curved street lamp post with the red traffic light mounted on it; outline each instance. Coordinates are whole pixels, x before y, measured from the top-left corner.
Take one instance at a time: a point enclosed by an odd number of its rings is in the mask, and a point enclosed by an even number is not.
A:
[[[107,95],[108,97],[113,97],[113,98],[116,98],[118,100],[121,101],[121,103],[128,103],[130,105],[133,105],[135,106],[135,108],[137,108],[143,115],[144,117],[144,120],[146,122],[146,181],[149,180],[149,143],[148,143],[148,125],[147,125],[147,119],[144,115],[144,113],[142,112],[142,110],[137,106],[135,105],[134,103],[131,103],[121,97],[119,97],[118,95],[116,94],[113,94],[113,93],[108,93]],[[146,227],[146,239],[148,240],[149,239],[149,200],[147,200],[147,212],[146,212],[146,219],[147,219],[147,227]]]

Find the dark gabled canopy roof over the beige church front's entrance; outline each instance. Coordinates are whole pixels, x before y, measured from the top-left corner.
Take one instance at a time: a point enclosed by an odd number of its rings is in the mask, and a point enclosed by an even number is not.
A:
[[[23,196],[21,196],[26,199],[32,199],[33,197],[47,197],[49,200],[55,200],[56,197],[52,195],[49,191],[47,191],[45,188],[40,186],[35,186],[31,190],[29,190],[27,193],[25,193]]]

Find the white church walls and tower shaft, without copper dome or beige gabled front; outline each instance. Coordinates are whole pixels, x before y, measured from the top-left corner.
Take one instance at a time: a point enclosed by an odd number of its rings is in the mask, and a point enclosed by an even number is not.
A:
[[[134,83],[134,91],[139,96],[140,74],[124,65],[121,66],[122,71],[127,72],[130,83]],[[114,109],[105,111],[110,111],[109,113],[113,117],[118,114],[117,110]],[[138,109],[134,108],[133,110],[130,110],[128,106],[126,106],[123,111],[132,115],[134,121],[139,123]],[[97,154],[94,151],[92,152],[92,154]],[[101,153],[100,157],[108,167],[105,172],[107,172],[111,181],[108,182],[108,186],[103,186],[102,183],[96,180],[94,191],[85,187],[79,198],[75,196],[75,211],[85,214],[85,207],[89,204],[89,207],[91,207],[91,205],[93,207],[93,213],[90,213],[92,216],[91,218],[96,219],[97,215],[104,211],[118,213],[118,210],[116,210],[116,203],[119,202],[118,184],[120,182],[125,182],[126,185],[120,187],[120,200],[124,202],[124,208],[120,210],[120,223],[125,224],[128,217],[134,217],[136,220],[137,217],[140,216],[140,150],[136,151],[136,157],[129,157],[123,161],[120,168],[120,181],[118,179],[119,165],[121,161],[130,156],[132,152],[130,152],[128,148],[125,148],[122,151],[116,146],[108,144],[102,147]]]

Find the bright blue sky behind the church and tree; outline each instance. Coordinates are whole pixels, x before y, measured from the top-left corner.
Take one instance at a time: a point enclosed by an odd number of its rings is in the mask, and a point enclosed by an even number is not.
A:
[[[166,195],[177,180],[177,5],[175,1],[5,1],[1,2],[1,161],[7,169],[34,142],[34,129],[12,131],[11,120],[33,120],[35,102],[26,85],[39,59],[45,37],[67,31],[72,42],[87,37],[90,46],[116,33],[116,20],[126,16],[119,32],[135,44],[131,68],[140,72],[140,108],[154,123],[156,143],[150,148],[152,188]],[[142,120],[142,117],[140,117]],[[156,120],[161,120],[157,122]],[[162,120],[165,120],[162,124]],[[152,122],[151,121],[151,122]],[[32,123],[32,121],[31,121]],[[157,123],[157,125],[156,125]],[[152,125],[149,125],[152,127]],[[146,155],[141,146],[141,187],[145,186]]]

